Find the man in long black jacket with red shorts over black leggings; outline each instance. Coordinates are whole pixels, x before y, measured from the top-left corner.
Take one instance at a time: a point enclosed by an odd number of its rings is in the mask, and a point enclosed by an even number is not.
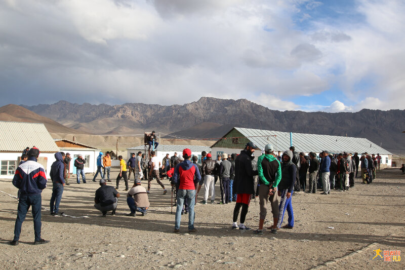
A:
[[[232,229],[239,227],[240,230],[251,230],[245,226],[245,218],[248,213],[250,199],[252,194],[255,194],[255,183],[253,176],[258,175],[257,170],[253,171],[252,168],[252,154],[255,150],[259,150],[253,142],[248,142],[245,149],[240,151],[239,156],[235,159],[235,179],[233,180],[233,187],[235,189],[236,204],[233,210],[233,224]],[[240,207],[240,224],[236,223],[237,216],[239,215]]]

